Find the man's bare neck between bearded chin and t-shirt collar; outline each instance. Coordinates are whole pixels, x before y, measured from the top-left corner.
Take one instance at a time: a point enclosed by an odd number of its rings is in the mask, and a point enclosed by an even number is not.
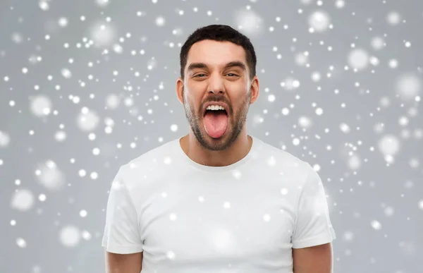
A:
[[[252,138],[247,133],[241,133],[226,150],[212,151],[200,145],[193,133],[189,133],[180,139],[180,147],[192,161],[205,166],[228,166],[240,161],[252,146]]]

